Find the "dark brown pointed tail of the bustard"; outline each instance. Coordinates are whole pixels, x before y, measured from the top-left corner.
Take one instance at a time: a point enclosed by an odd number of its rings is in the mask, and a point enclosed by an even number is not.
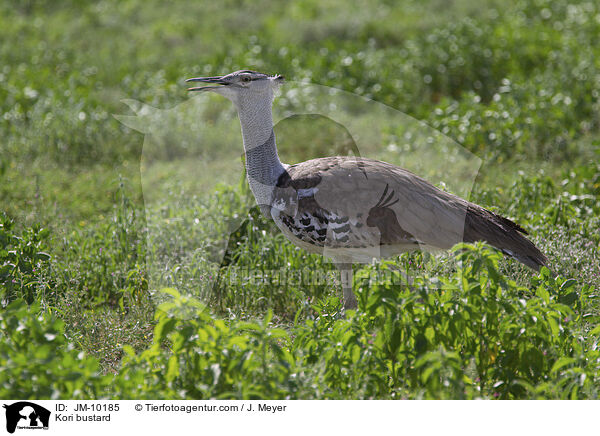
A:
[[[465,217],[465,242],[486,241],[503,253],[539,271],[548,259],[524,235],[527,232],[511,220],[476,205],[469,205]]]

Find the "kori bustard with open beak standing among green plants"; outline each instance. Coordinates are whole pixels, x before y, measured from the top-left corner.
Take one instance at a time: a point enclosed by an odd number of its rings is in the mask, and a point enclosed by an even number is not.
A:
[[[547,266],[521,226],[406,169],[360,156],[282,163],[272,116],[282,75],[240,70],[186,82],[202,83],[188,91],[213,92],[234,104],[247,180],[261,213],[292,243],[335,264],[344,310],[358,306],[353,263],[407,251],[484,241],[535,271]]]

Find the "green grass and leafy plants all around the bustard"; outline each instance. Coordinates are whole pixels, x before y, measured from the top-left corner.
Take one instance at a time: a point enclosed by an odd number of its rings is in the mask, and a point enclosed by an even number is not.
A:
[[[599,397],[596,3],[5,1],[0,39],[0,396]],[[470,199],[552,272],[405,254],[358,268],[342,316],[333,267],[252,207],[231,107],[185,93],[241,68],[455,140],[482,159]],[[316,102],[282,92],[282,112]],[[284,121],[287,162],[353,150],[350,126]],[[410,126],[381,129],[360,152],[403,162]]]

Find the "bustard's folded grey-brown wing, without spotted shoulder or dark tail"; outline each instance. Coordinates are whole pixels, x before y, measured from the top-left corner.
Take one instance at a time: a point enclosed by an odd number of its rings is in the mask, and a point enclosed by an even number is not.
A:
[[[393,244],[416,239],[438,248],[462,240],[464,200],[435,188],[409,171],[362,158],[314,159],[289,168],[289,182],[311,190],[305,206],[337,217],[357,219],[377,229],[369,244]],[[302,200],[298,213],[302,213]]]

